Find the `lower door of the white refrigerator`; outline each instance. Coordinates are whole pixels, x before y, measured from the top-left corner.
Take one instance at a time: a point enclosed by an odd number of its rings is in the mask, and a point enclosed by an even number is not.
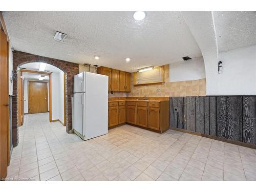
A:
[[[84,93],[74,93],[73,99],[73,129],[77,131],[81,136],[83,133],[83,114],[84,114]]]

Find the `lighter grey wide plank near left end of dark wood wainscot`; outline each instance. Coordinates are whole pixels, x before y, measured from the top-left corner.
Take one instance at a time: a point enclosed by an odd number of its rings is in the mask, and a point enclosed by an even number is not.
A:
[[[196,97],[186,97],[186,130],[196,131]]]

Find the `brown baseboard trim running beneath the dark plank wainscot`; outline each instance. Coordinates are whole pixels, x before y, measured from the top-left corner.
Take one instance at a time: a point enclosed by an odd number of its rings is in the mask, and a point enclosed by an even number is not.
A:
[[[206,138],[209,138],[209,139],[222,141],[222,142],[225,142],[225,143],[236,144],[236,145],[239,145],[239,146],[244,146],[244,147],[256,149],[256,145],[249,144],[249,143],[243,143],[241,141],[229,140],[229,139],[225,139],[225,138],[221,138],[221,137],[217,137],[217,136],[212,136],[212,135],[206,135],[206,134],[198,133],[198,132],[194,132],[194,131],[181,130],[181,129],[178,129],[178,128],[175,128],[175,127],[170,127],[170,130],[189,133],[189,134],[193,134],[193,135],[197,135],[197,136],[206,137]]]

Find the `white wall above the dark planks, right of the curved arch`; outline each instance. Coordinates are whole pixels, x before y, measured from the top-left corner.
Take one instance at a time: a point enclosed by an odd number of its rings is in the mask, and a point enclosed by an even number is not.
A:
[[[215,95],[256,95],[256,45],[219,53],[223,73]]]

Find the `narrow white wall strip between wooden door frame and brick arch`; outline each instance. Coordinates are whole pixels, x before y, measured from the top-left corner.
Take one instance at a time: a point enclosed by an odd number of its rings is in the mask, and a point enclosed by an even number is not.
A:
[[[59,74],[59,120],[64,123],[64,72],[60,71]]]

